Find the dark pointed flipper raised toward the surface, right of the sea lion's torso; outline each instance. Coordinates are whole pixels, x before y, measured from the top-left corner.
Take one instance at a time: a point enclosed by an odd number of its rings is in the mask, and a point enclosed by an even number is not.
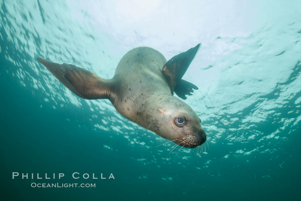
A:
[[[189,64],[197,53],[200,44],[194,48],[190,48],[186,52],[182,52],[172,57],[162,68],[162,73],[165,76],[171,91],[174,91],[175,86],[182,79]]]

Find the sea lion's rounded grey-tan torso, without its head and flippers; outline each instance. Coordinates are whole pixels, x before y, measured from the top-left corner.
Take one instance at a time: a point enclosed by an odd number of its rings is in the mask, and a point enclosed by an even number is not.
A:
[[[146,126],[144,122],[140,122],[145,99],[154,93],[171,95],[161,72],[166,62],[160,52],[148,47],[135,48],[121,58],[113,77],[118,84],[114,89],[117,95],[112,101],[119,113]]]

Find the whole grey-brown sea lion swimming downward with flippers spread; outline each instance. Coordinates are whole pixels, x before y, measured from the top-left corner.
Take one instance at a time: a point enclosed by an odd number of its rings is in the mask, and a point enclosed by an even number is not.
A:
[[[191,95],[194,84],[182,79],[200,44],[169,61],[149,47],[134,48],[119,61],[112,79],[101,79],[83,68],[38,60],[74,94],[111,101],[127,119],[182,147],[206,141],[200,118],[180,98]]]

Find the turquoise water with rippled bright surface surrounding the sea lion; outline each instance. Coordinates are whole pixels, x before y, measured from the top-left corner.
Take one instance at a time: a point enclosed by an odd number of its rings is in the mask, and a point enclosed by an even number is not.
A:
[[[1,1],[0,14],[4,200],[300,197],[299,1]],[[197,43],[183,78],[199,88],[185,102],[207,133],[202,153],[156,147],[166,140],[108,100],[73,95],[36,59],[109,79],[132,48],[149,46],[169,60]],[[12,172],[65,176],[12,179]]]

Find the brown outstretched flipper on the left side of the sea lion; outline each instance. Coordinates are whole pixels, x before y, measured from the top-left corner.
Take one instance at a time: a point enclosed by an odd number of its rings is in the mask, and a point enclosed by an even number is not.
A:
[[[63,63],[38,60],[74,94],[85,99],[110,99],[111,81],[101,79],[83,68]]]

